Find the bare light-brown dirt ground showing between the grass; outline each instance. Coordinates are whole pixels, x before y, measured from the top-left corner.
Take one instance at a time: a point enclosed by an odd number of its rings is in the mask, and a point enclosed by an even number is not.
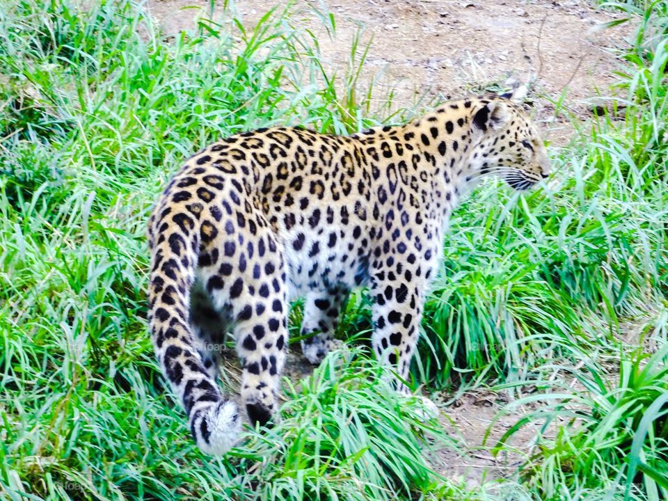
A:
[[[223,18],[222,4],[214,6],[214,19]],[[198,17],[208,17],[210,3],[148,0],[147,6],[164,32],[173,35],[191,29]],[[263,0],[245,0],[230,9],[252,28],[273,6]],[[607,87],[618,65],[615,49],[626,45],[624,40],[633,30],[629,23],[601,29],[615,19],[614,13],[577,0],[326,0],[313,5],[300,0],[297,6],[303,9],[296,19],[320,41],[324,66],[339,74],[349,63],[356,33],[362,30],[363,44],[372,40],[361,85],[380,74],[376,93],[393,90],[396,108],[410,108],[421,98],[428,102],[433,97],[477,92],[503,84],[509,77],[534,81],[534,118],[556,145],[567,141],[572,125],[555,116],[552,103],[565,95],[566,109],[586,119],[596,96],[610,93]],[[333,40],[311,7],[333,13],[337,24]],[[287,372],[292,379],[310,372],[298,354],[289,358]],[[503,406],[498,395],[481,392],[442,406],[443,426],[464,445],[460,451],[439,452],[435,466],[443,475],[479,484],[511,475],[530,454],[534,429],[527,428],[514,437],[515,454],[491,456],[488,446],[518,419],[509,416],[494,422]],[[491,424],[491,438],[483,445]]]

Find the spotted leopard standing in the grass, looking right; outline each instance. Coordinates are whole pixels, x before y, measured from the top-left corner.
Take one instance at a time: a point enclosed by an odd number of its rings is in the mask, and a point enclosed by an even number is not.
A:
[[[265,127],[187,159],[150,216],[148,324],[199,449],[230,450],[244,410],[254,426],[276,420],[298,298],[301,349],[317,365],[340,344],[349,292],[367,287],[372,351],[410,395],[452,211],[484,177],[524,191],[549,174],[539,129],[508,94],[450,99],[350,135]],[[241,365],[236,401],[216,379],[225,336]]]

